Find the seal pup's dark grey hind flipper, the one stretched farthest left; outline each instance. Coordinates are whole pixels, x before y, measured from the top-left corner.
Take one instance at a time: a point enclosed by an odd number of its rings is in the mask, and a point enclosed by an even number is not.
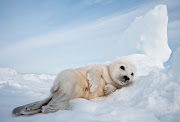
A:
[[[41,113],[42,106],[47,105],[51,99],[52,96],[42,101],[19,106],[12,111],[12,114],[16,116],[20,116],[20,115],[33,115],[33,114]]]

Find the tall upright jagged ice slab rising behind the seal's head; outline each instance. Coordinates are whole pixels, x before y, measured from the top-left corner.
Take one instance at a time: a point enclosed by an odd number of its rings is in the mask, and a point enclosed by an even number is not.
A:
[[[155,64],[166,62],[171,54],[167,40],[167,7],[155,6],[144,16],[137,17],[123,33],[118,41],[119,49],[127,48],[127,52],[144,54],[151,58]]]

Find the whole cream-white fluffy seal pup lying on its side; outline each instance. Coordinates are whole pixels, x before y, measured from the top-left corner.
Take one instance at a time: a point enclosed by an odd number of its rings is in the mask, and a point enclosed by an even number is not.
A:
[[[65,110],[74,98],[93,99],[109,95],[116,89],[133,83],[136,67],[130,61],[119,58],[109,65],[94,64],[60,72],[51,95],[44,100],[15,108],[14,115],[32,115]]]

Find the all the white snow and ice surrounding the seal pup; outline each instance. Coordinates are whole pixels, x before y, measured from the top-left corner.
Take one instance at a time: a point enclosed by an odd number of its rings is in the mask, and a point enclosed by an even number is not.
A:
[[[51,114],[14,117],[13,108],[49,95],[55,75],[18,74],[0,68],[0,120],[20,121],[180,121],[180,47],[173,53],[171,67],[163,67],[171,54],[167,43],[167,8],[158,5],[137,17],[121,39],[132,41],[136,54],[126,56],[135,63],[138,78],[129,87],[95,100],[75,99],[68,110]],[[120,39],[120,40],[121,40]],[[121,43],[121,41],[119,41]],[[135,47],[133,47],[135,46]]]

